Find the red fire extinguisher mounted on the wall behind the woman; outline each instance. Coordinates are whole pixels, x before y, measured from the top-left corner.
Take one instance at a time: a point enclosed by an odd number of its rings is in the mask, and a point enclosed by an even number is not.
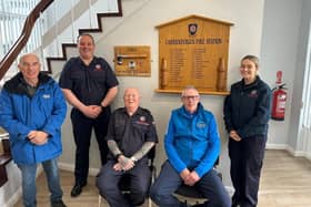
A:
[[[285,116],[288,93],[284,85],[285,83],[273,89],[271,118],[275,121],[283,121]]]

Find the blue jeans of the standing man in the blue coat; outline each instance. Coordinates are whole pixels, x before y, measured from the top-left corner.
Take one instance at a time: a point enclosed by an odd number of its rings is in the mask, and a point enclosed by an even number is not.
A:
[[[62,190],[59,180],[57,158],[42,162],[42,166],[48,179],[48,187],[51,193],[50,200],[56,201],[62,198]],[[37,164],[18,164],[22,177],[22,199],[24,207],[36,207],[36,172]]]

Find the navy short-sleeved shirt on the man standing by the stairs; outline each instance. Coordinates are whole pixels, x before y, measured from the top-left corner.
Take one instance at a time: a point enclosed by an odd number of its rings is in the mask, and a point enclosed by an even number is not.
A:
[[[106,60],[94,56],[89,65],[77,56],[63,66],[59,84],[69,89],[86,105],[100,105],[109,89],[117,86],[118,80]]]

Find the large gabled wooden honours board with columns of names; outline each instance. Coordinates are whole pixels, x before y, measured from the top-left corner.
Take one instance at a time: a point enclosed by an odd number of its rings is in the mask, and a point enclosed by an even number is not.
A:
[[[159,29],[159,90],[180,92],[185,85],[201,93],[227,92],[229,34],[232,23],[190,15]]]

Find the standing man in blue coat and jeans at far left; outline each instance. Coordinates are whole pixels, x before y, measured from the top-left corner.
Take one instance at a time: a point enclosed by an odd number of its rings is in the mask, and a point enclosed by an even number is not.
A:
[[[6,82],[0,94],[0,125],[9,133],[14,163],[21,170],[26,207],[36,207],[36,170],[42,164],[52,207],[66,207],[59,180],[62,153],[61,124],[67,106],[58,84],[40,73],[36,54],[21,56],[20,73]]]

